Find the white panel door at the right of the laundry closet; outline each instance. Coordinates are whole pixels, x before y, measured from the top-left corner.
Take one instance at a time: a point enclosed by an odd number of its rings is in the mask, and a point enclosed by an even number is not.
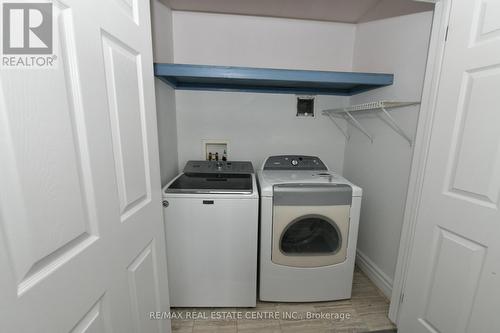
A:
[[[500,0],[453,0],[401,333],[500,332]]]

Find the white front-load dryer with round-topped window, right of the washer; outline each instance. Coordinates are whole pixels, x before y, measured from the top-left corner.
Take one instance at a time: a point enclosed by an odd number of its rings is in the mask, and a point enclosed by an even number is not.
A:
[[[258,181],[259,298],[350,298],[362,189],[314,156],[271,156]]]

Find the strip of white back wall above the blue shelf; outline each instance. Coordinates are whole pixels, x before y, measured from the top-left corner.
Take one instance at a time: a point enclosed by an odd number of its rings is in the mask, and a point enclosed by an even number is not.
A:
[[[173,12],[177,63],[350,71],[355,25]]]

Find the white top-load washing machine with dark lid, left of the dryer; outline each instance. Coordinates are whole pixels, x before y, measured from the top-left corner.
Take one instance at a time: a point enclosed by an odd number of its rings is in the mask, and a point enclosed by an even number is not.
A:
[[[259,194],[251,162],[189,161],[163,189],[170,305],[254,307]]]

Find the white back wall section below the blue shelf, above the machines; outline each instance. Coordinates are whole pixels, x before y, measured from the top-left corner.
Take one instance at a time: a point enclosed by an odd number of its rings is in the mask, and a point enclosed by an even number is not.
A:
[[[295,117],[294,95],[177,91],[179,164],[203,159],[202,140],[229,141],[229,158],[257,169],[279,154],[322,156],[342,171],[345,140],[328,119]],[[316,110],[342,105],[345,97],[321,96]]]

